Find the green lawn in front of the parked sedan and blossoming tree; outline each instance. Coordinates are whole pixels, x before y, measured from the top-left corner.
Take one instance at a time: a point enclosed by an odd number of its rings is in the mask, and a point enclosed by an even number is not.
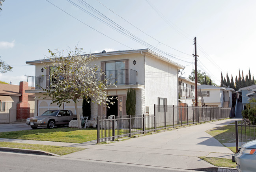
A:
[[[82,143],[97,139],[97,129],[54,128],[0,133],[0,138]]]

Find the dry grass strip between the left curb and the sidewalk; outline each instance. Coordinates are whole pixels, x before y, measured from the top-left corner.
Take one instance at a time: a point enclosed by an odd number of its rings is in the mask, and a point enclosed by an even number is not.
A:
[[[67,155],[67,154],[84,150],[84,148],[60,147],[60,146],[49,146],[49,145],[42,145],[42,144],[25,144],[25,143],[12,143],[12,142],[0,142],[0,147],[42,150],[42,151],[50,152],[57,155]]]

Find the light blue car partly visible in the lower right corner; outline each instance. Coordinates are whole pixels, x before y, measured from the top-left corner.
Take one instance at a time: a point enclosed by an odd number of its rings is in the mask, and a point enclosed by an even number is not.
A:
[[[256,140],[243,144],[238,153],[232,155],[232,161],[239,172],[256,172]]]

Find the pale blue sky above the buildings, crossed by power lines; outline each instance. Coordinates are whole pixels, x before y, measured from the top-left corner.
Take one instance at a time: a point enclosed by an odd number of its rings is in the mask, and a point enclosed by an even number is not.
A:
[[[195,36],[198,69],[205,71],[218,85],[221,71],[224,76],[228,71],[230,78],[233,74],[234,79],[238,68],[243,70],[244,77],[249,68],[251,74],[256,75],[255,0],[48,1],[94,30],[46,0],[6,0],[0,12],[0,56],[13,66],[13,72],[0,74],[1,81],[19,84],[19,81],[26,81],[25,75],[34,76],[34,66],[26,65],[26,61],[43,59],[49,55],[48,49],[74,49],[78,45],[86,53],[94,53],[149,48],[109,28],[70,1],[86,10],[80,2],[88,3],[150,44],[149,49],[160,50],[168,54],[163,54],[165,57],[186,66],[182,76],[188,77],[194,68]]]

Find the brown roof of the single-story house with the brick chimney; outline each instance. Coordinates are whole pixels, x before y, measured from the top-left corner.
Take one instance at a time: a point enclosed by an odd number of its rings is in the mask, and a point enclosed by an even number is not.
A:
[[[19,89],[19,85],[0,83],[0,95],[21,96],[21,93],[19,93]],[[28,87],[28,89],[31,89],[31,87]],[[35,96],[35,94],[28,93],[28,96]]]

